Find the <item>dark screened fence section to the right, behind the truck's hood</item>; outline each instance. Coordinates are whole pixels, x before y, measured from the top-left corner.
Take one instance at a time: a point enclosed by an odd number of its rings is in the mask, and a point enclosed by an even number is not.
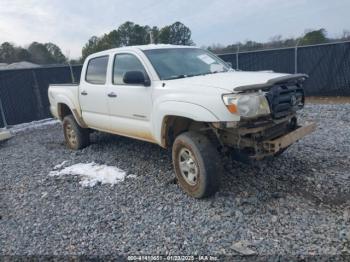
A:
[[[219,55],[243,71],[305,73],[307,96],[350,96],[350,42]]]

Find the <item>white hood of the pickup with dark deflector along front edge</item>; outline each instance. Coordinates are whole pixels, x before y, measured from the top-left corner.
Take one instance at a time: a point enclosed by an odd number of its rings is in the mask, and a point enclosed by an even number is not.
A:
[[[241,72],[232,71],[203,76],[168,80],[172,85],[202,86],[224,89],[226,91],[240,92],[247,90],[259,90],[278,83],[299,81],[307,78],[304,74],[282,74],[273,72]]]

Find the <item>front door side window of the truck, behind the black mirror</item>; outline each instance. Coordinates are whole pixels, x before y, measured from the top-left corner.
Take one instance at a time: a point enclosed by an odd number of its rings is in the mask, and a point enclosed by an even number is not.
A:
[[[128,71],[141,71],[146,76],[145,68],[140,60],[132,54],[117,54],[114,57],[113,84],[126,85],[123,81],[124,74]]]

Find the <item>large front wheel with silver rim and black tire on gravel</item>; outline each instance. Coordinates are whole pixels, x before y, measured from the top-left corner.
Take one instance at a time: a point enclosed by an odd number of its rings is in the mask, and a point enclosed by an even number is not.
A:
[[[206,136],[182,133],[174,141],[172,158],[177,180],[187,194],[203,198],[218,191],[222,165],[218,151]]]

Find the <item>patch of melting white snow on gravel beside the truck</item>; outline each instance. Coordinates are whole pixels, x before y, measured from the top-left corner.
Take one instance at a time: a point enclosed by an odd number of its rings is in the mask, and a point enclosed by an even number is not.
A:
[[[78,163],[65,167],[62,170],[54,170],[49,173],[49,176],[65,175],[79,176],[79,184],[83,187],[93,187],[98,183],[114,185],[124,181],[126,178],[125,171],[114,166],[99,165],[94,162]]]

